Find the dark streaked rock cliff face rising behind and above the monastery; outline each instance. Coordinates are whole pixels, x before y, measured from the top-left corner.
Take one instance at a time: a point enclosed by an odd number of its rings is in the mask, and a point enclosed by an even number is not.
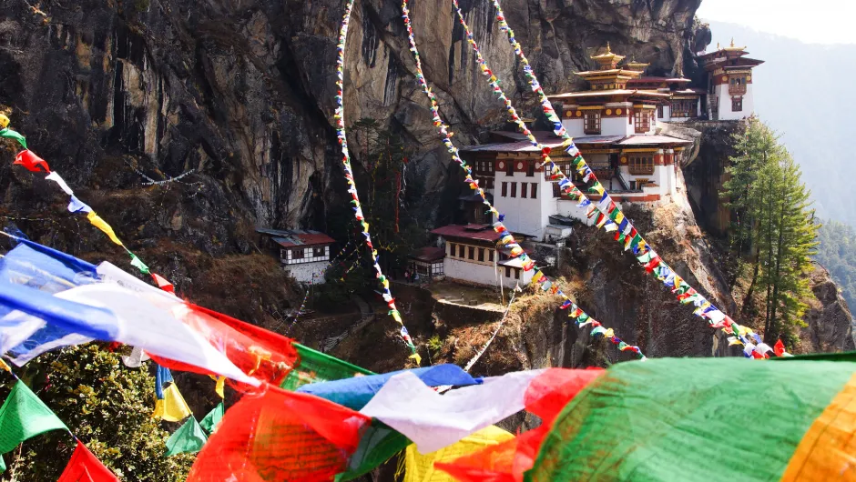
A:
[[[655,72],[674,71],[688,58],[699,1],[509,0],[504,7],[544,85],[558,91],[607,41]],[[489,2],[462,6],[494,72],[525,104],[527,89]],[[122,191],[140,202],[139,212],[107,213],[114,226],[133,226],[126,239],[171,237],[213,255],[247,253],[249,226],[324,228],[325,206],[339,202],[331,115],[341,14],[341,2],[331,0],[47,1],[39,8],[9,0],[0,5],[0,105],[72,186],[98,191],[89,198],[106,204]],[[456,139],[472,142],[501,122],[501,105],[476,75],[451,5],[413,2],[413,18],[443,115]],[[375,118],[419,146],[415,176],[429,197],[439,196],[448,158],[404,45],[397,1],[357,3],[346,116]],[[138,174],[163,180],[189,171],[186,184],[151,188]],[[2,187],[7,196],[25,194]],[[178,199],[158,206],[138,199],[167,188]]]

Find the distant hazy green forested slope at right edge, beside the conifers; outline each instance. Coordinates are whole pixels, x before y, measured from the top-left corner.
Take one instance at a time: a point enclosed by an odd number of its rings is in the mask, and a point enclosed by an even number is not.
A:
[[[818,240],[815,259],[830,270],[832,279],[841,286],[847,306],[856,309],[856,231],[837,221],[825,221],[818,231]]]

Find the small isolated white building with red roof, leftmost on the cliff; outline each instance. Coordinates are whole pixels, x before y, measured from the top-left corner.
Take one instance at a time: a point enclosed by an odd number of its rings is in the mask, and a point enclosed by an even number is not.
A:
[[[330,246],[336,241],[319,231],[308,229],[256,229],[268,236],[280,255],[282,268],[300,283],[321,285],[330,263]]]

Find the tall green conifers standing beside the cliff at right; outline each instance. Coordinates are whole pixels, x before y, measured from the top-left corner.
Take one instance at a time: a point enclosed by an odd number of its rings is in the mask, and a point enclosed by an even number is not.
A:
[[[739,156],[731,158],[724,184],[735,215],[730,251],[739,260],[732,282],[749,268],[743,311],[759,290],[764,339],[771,343],[802,325],[818,226],[800,168],[768,126],[750,119],[746,132],[735,136],[735,147]]]

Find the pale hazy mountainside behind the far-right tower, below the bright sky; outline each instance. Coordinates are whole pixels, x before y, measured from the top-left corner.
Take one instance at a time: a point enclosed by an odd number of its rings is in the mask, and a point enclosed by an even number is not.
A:
[[[703,20],[703,19],[702,19]],[[847,94],[856,74],[856,45],[810,45],[712,22],[713,43],[746,45],[749,56],[765,60],[755,69],[755,109],[777,131],[802,168],[819,216],[856,225],[850,118],[856,98]],[[831,266],[827,266],[831,267]]]

